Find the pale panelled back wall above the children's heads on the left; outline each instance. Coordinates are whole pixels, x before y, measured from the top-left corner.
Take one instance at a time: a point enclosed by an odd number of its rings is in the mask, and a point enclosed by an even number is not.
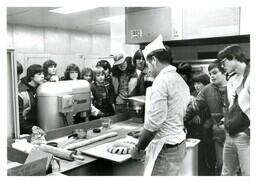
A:
[[[85,57],[110,54],[110,35],[107,34],[17,24],[8,24],[7,32],[8,47],[15,49],[16,59],[25,70],[31,64],[53,59],[58,64],[58,74],[62,76],[70,63],[76,63],[82,69]]]

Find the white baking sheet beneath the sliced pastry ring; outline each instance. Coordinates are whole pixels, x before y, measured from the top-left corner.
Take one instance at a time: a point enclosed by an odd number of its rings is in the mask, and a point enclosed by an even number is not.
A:
[[[114,161],[117,163],[122,163],[122,162],[130,159],[131,154],[120,155],[120,154],[112,154],[107,151],[107,146],[111,145],[112,143],[121,142],[121,141],[133,142],[136,144],[138,142],[138,139],[133,138],[131,136],[126,136],[125,138],[121,138],[121,139],[118,139],[113,142],[108,142],[108,143],[98,145],[98,146],[90,148],[90,149],[81,150],[81,152],[86,155],[107,159],[107,160]]]

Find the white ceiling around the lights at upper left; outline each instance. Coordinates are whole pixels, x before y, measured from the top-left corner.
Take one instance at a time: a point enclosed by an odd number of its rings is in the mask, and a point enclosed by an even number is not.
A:
[[[110,34],[110,23],[100,18],[124,14],[124,7],[99,7],[72,14],[49,12],[55,7],[8,7],[7,22],[38,27],[55,27],[69,30]]]

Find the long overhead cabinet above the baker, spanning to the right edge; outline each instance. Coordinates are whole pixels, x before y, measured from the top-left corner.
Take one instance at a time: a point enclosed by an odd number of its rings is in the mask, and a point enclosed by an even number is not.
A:
[[[245,20],[240,7],[126,8],[126,43],[147,43],[159,34],[164,41],[244,35]]]

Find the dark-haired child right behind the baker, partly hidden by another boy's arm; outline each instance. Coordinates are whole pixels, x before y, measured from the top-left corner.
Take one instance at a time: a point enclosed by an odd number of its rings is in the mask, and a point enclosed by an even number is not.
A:
[[[196,95],[210,83],[210,77],[206,73],[195,75],[192,79]],[[190,104],[193,104],[195,96],[191,95]],[[208,125],[210,112],[207,108],[201,110],[192,120],[185,123],[187,138],[200,139],[198,145],[198,175],[208,176],[214,174],[215,158],[214,142],[212,140],[211,125]],[[212,122],[210,122],[212,123]]]

